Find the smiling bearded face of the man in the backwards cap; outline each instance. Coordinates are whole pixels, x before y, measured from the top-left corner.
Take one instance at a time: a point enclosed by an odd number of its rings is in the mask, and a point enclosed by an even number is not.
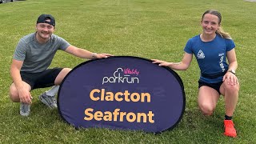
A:
[[[50,22],[50,19],[46,20],[46,21]],[[54,32],[54,26],[51,26],[48,23],[38,23],[36,26],[36,30],[37,30],[37,32],[38,32],[37,34],[40,38],[49,39],[51,34],[53,34],[53,32]]]

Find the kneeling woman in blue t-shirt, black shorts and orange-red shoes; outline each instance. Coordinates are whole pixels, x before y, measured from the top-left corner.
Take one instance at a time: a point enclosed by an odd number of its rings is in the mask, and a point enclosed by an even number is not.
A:
[[[201,76],[198,81],[198,106],[202,114],[211,115],[216,108],[220,94],[225,98],[224,134],[235,138],[232,117],[238,102],[239,82],[235,75],[238,67],[234,42],[230,34],[221,27],[222,16],[217,10],[207,10],[202,14],[202,34],[190,38],[184,48],[182,62],[164,62],[153,59],[159,66],[168,66],[174,70],[186,70],[197,58]],[[226,62],[226,58],[228,63]]]

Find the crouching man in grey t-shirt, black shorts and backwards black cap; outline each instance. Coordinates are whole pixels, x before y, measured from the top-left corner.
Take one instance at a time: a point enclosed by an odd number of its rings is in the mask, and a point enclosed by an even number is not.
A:
[[[55,19],[50,14],[38,17],[36,32],[21,38],[16,46],[10,66],[13,83],[10,85],[10,99],[21,102],[20,114],[28,116],[32,96],[30,90],[53,86],[39,96],[41,102],[50,108],[57,108],[55,94],[59,84],[70,72],[70,68],[48,69],[57,50],[64,50],[79,58],[108,58],[111,54],[96,54],[70,45],[65,39],[53,34]]]

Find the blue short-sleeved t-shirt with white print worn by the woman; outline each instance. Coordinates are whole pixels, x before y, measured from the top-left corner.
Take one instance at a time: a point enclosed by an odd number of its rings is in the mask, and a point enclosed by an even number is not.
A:
[[[222,38],[216,34],[214,40],[202,42],[200,34],[190,38],[184,51],[194,54],[201,70],[200,81],[215,83],[222,82],[223,75],[228,70],[226,52],[234,49],[232,39]]]

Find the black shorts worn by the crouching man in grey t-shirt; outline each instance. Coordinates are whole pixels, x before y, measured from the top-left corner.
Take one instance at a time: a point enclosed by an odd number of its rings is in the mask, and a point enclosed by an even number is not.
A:
[[[31,86],[31,90],[54,86],[54,81],[63,68],[47,69],[39,73],[21,71],[22,81]]]

